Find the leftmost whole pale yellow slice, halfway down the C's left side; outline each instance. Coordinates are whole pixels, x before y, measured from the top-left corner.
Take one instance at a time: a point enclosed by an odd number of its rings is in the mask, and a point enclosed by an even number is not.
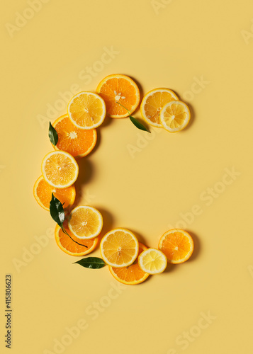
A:
[[[41,164],[43,178],[55,188],[67,188],[78,176],[77,161],[68,152],[49,152]]]

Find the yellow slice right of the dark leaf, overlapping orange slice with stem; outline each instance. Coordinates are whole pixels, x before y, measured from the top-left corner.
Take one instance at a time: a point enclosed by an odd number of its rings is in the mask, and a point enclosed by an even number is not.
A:
[[[94,207],[79,205],[69,214],[68,227],[79,239],[93,239],[101,232],[103,218]]]

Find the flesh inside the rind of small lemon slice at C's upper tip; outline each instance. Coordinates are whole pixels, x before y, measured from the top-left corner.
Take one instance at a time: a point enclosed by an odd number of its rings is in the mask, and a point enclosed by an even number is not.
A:
[[[183,105],[178,105],[176,103],[167,107],[164,112],[164,122],[166,125],[172,129],[176,129],[184,125],[188,118]]]

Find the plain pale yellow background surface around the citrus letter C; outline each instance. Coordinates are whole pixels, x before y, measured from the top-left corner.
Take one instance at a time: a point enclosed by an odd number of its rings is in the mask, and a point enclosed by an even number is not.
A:
[[[13,354],[251,353],[252,1],[51,0],[35,13],[27,1],[4,2],[1,353],[7,273]],[[16,21],[23,26],[8,25]],[[180,222],[193,235],[191,260],[135,287],[118,287],[107,268],[72,265],[79,258],[48,237],[54,222],[33,198],[52,150],[48,121],[65,113],[59,92],[94,91],[113,73],[144,93],[173,89],[193,114],[184,131],[151,129],[150,140],[128,119],[107,119],[79,163],[80,203],[101,210],[103,232],[127,227],[152,247]]]

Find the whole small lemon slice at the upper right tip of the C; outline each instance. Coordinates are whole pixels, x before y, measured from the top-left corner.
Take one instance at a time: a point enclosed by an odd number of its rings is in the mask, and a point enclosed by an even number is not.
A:
[[[168,132],[179,132],[184,129],[190,118],[188,105],[181,101],[170,101],[160,112],[160,122]]]

